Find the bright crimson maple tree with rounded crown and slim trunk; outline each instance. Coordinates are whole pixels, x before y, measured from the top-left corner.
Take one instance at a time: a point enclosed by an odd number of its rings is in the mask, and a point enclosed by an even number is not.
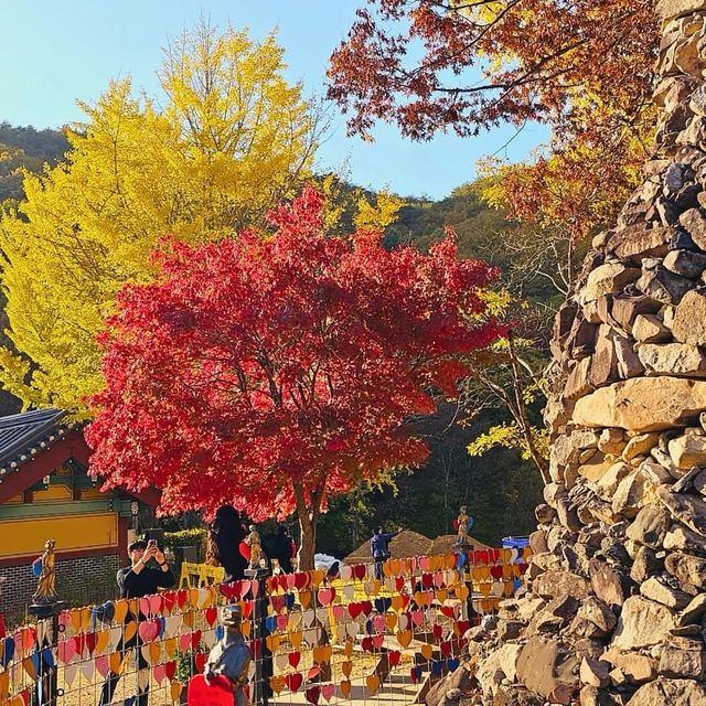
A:
[[[324,237],[308,190],[270,214],[274,235],[159,255],[103,335],[106,387],[86,438],[110,486],[162,490],[160,511],[223,503],[254,520],[297,511],[302,568],[328,499],[427,457],[407,425],[456,394],[458,354],[493,341],[452,234],[428,255],[379,232]]]

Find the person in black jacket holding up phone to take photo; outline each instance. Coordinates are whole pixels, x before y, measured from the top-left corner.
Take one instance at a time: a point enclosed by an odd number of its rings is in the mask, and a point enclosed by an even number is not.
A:
[[[120,598],[142,598],[143,596],[157,593],[159,588],[169,588],[170,586],[174,586],[176,582],[176,579],[164,558],[164,554],[160,550],[157,546],[157,542],[153,539],[150,542],[145,542],[143,539],[131,542],[128,545],[128,555],[130,557],[130,566],[120,569],[117,575]],[[147,566],[147,563],[152,558],[157,563],[156,568]],[[136,620],[139,621],[143,618],[145,616],[141,614],[133,616],[128,613],[126,623],[133,622]],[[126,640],[125,642],[120,640],[116,652],[121,652],[122,661],[125,661],[128,651],[135,648],[138,668],[137,703],[138,706],[147,706],[149,680],[147,680],[146,684],[141,687],[139,672],[141,670],[148,670],[149,674],[150,665],[142,656],[142,651],[140,650],[141,646],[142,641],[140,640],[139,632],[136,630],[135,634],[129,640]],[[103,683],[103,688],[100,689],[100,700],[98,702],[98,706],[108,706],[113,700],[113,695],[115,694],[119,678],[119,673],[108,672],[106,681]]]

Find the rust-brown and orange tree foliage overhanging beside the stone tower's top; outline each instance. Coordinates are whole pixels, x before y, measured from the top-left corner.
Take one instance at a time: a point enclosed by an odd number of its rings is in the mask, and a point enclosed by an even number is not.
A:
[[[510,214],[574,237],[614,214],[653,130],[657,19],[642,0],[368,0],[331,57],[352,132],[474,136],[528,120],[547,154],[510,167]]]

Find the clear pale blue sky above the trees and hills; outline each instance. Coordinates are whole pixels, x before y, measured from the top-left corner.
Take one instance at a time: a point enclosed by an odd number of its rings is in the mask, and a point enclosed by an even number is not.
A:
[[[81,119],[75,100],[95,100],[108,81],[132,76],[137,87],[158,93],[154,72],[170,36],[203,14],[212,24],[247,26],[255,39],[278,31],[288,78],[321,95],[328,57],[345,38],[364,0],[0,0],[0,120],[36,128]],[[517,161],[543,139],[537,127],[515,135],[506,126],[475,139],[440,136],[404,140],[392,126],[365,143],[345,137],[344,118],[332,111],[332,135],[319,152],[321,169],[345,171],[356,184],[389,186],[403,195],[440,199],[473,178],[475,161],[500,150]]]

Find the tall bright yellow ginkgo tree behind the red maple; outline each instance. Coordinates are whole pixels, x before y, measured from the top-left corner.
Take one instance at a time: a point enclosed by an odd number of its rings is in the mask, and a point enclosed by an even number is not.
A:
[[[65,161],[25,173],[0,221],[7,335],[0,382],[28,405],[84,414],[101,386],[96,334],[149,254],[233,236],[311,174],[320,114],[284,77],[274,36],[202,23],[165,51],[163,96],[110,83],[68,132]]]

